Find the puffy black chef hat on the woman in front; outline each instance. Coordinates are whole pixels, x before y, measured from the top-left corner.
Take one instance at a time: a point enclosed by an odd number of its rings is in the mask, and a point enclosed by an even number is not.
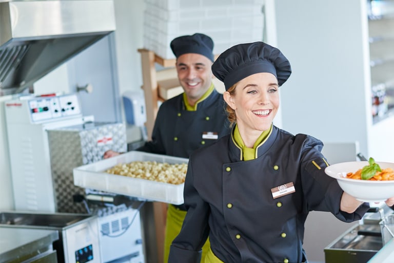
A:
[[[281,86],[291,74],[290,62],[278,48],[264,42],[254,42],[230,47],[212,65],[212,73],[224,83],[226,90],[240,80],[261,72],[274,74]]]

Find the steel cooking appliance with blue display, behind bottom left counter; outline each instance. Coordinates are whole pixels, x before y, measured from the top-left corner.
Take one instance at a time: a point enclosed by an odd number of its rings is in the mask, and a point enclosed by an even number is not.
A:
[[[56,230],[53,241],[57,262],[100,263],[97,216],[69,213],[34,213],[6,211],[0,213],[0,226],[17,229]]]

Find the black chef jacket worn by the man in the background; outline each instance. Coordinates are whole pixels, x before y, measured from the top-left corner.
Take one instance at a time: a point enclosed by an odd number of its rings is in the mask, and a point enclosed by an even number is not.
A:
[[[137,149],[155,154],[189,158],[190,154],[230,133],[223,95],[215,89],[197,110],[186,110],[183,93],[160,106],[152,140]]]

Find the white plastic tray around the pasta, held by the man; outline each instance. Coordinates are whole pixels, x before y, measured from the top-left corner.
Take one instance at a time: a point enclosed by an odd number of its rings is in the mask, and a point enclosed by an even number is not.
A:
[[[132,161],[156,161],[170,164],[188,163],[187,158],[131,151],[109,159],[74,168],[74,184],[84,188],[133,196],[149,201],[160,201],[172,204],[183,203],[183,183],[170,184],[104,172],[116,164],[129,163]]]

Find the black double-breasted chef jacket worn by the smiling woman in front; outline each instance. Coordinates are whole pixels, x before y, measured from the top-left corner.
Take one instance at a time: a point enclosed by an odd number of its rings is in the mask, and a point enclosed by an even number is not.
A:
[[[352,214],[340,211],[343,191],[324,172],[322,147],[316,138],[273,126],[254,160],[241,161],[231,136],[194,152],[184,189],[187,214],[169,262],[200,262],[208,235],[213,253],[226,263],[302,262],[309,211],[328,211],[345,222],[361,219],[368,204]],[[291,185],[295,192],[273,198]]]

